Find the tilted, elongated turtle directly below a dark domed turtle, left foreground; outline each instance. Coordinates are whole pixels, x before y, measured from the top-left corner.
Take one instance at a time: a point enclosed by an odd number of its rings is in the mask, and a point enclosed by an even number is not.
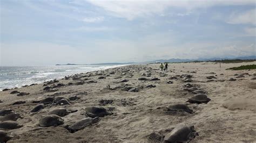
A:
[[[87,117],[81,120],[78,120],[76,123],[72,124],[71,126],[66,126],[66,128],[71,132],[74,133],[79,130],[83,130],[87,126],[91,126],[99,122],[99,117],[91,118]]]

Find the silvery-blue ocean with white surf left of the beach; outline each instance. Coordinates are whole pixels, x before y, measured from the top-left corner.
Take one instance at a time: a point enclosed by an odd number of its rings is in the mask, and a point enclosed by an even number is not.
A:
[[[86,73],[125,65],[74,65],[74,66],[37,66],[37,67],[1,67],[0,91],[5,88],[19,88],[32,83],[43,83],[67,75]]]

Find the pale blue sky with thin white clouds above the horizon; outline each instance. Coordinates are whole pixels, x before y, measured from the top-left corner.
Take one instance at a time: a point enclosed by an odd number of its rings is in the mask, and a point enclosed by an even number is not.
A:
[[[0,1],[0,66],[256,55],[255,1]]]

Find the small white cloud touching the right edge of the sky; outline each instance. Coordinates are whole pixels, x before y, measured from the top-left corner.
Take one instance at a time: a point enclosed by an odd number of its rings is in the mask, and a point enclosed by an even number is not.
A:
[[[242,13],[235,12],[230,16],[230,18],[228,18],[227,23],[256,25],[256,9]]]

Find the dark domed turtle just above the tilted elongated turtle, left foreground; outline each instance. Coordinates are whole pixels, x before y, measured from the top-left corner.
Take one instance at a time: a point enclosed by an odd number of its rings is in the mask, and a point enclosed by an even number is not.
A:
[[[89,106],[85,108],[86,114],[89,117],[104,117],[106,115],[112,115],[112,113],[107,112],[102,106]]]

